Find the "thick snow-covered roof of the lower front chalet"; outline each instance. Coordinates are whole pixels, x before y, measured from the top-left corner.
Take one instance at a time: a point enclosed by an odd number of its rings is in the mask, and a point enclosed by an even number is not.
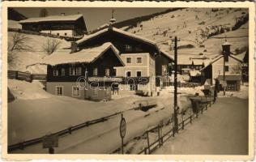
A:
[[[43,63],[49,64],[51,66],[79,62],[91,63],[96,61],[96,59],[99,58],[103,53],[105,53],[105,51],[109,48],[113,49],[117,58],[120,60],[120,62],[122,62],[122,59],[119,57],[119,51],[112,45],[112,43],[107,42],[103,45],[89,49],[83,49],[76,53],[70,53],[68,50],[54,52],[46,57]],[[122,62],[122,65],[124,66],[125,64]]]

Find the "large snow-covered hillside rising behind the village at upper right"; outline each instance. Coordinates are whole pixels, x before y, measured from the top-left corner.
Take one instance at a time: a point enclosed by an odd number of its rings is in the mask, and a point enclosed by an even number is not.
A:
[[[179,54],[187,57],[204,53],[212,58],[220,54],[225,36],[233,44],[233,53],[248,46],[248,10],[184,8],[122,29],[155,40],[169,53],[173,53],[170,46],[177,36]]]

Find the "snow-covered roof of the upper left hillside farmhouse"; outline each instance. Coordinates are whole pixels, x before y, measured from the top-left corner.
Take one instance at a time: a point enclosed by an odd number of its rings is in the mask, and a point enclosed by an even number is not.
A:
[[[19,23],[39,23],[39,22],[48,22],[48,21],[75,21],[83,17],[83,15],[50,15],[46,17],[38,17],[38,18],[28,18],[20,20]]]

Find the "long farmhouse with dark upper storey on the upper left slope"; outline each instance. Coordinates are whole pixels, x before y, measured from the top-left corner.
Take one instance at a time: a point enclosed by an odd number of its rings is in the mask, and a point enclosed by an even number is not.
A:
[[[20,20],[23,30],[49,33],[57,36],[83,36],[87,32],[83,15],[51,15]]]

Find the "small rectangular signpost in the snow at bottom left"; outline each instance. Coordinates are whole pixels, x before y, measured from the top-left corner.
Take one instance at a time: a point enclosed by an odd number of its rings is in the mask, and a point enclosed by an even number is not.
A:
[[[58,134],[45,135],[43,138],[43,148],[48,148],[49,154],[54,154],[53,147],[58,147]]]

